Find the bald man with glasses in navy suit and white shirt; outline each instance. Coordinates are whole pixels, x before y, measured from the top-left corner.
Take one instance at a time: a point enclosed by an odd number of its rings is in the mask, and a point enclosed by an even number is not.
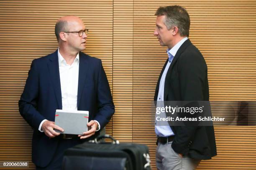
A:
[[[55,25],[59,48],[33,60],[19,101],[20,114],[34,130],[32,160],[38,170],[60,170],[64,150],[94,139],[115,112],[101,60],[85,50],[88,29],[80,18],[65,16]],[[88,110],[88,131],[63,135],[54,124],[56,109]]]

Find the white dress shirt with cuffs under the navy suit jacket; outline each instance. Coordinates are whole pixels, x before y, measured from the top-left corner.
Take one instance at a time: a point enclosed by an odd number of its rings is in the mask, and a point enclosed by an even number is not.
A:
[[[71,65],[68,65],[66,60],[62,57],[58,49],[58,59],[59,59],[59,76],[61,82],[61,101],[62,110],[77,110],[77,92],[78,92],[78,75],[79,75],[79,52]],[[38,130],[41,130],[43,120]],[[94,120],[98,124],[96,131],[100,130],[100,123]]]

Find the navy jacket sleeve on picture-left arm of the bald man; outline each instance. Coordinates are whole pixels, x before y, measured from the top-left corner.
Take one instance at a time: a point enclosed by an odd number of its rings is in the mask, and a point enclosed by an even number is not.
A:
[[[38,129],[40,123],[45,118],[36,110],[38,101],[39,76],[36,70],[35,60],[32,61],[31,68],[28,72],[28,78],[23,93],[20,96],[19,111],[20,115],[31,125],[32,128]]]

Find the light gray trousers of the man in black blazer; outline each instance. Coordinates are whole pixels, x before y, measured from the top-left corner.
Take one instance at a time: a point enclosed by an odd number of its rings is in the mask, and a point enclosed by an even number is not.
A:
[[[172,149],[172,142],[158,143],[156,148],[156,167],[157,170],[195,170],[201,160],[195,160],[184,156],[181,158]]]

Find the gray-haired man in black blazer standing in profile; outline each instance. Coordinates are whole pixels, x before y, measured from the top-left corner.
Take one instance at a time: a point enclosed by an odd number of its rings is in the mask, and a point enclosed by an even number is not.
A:
[[[154,101],[209,101],[207,65],[189,37],[187,10],[174,5],[156,11],[154,35],[167,46],[168,59],[156,85]],[[217,155],[212,126],[156,125],[158,170],[194,170]]]

